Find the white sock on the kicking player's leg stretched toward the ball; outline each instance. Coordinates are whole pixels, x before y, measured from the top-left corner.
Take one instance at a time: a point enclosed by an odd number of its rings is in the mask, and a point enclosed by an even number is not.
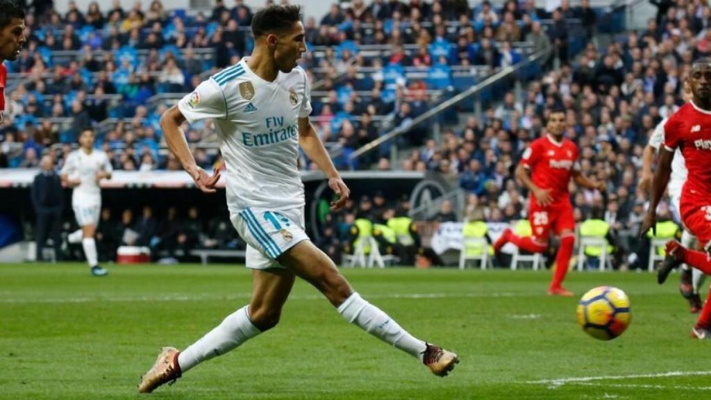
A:
[[[358,293],[353,293],[347,298],[338,307],[338,312],[348,322],[358,325],[370,335],[378,337],[383,342],[390,343],[422,361],[422,353],[427,349],[427,344],[407,333],[383,310],[363,300]]]

